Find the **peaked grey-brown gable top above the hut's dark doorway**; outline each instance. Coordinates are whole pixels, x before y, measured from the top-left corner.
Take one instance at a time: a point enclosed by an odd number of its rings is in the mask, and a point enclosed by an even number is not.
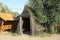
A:
[[[35,16],[31,9],[32,9],[32,8],[30,8],[29,6],[25,5],[22,14],[19,15],[19,16],[17,16],[17,18],[18,18],[18,19],[19,19],[20,17],[29,18],[29,17]]]

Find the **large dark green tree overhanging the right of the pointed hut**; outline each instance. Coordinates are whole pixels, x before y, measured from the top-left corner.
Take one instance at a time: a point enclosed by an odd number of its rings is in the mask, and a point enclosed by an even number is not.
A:
[[[60,22],[60,0],[29,0],[29,4],[39,23],[47,23],[49,32],[56,32],[56,24]]]

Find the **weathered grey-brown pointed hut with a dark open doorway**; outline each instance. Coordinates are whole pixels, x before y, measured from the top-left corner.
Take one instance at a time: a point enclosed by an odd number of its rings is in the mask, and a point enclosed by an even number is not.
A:
[[[36,22],[36,17],[32,13],[29,6],[25,6],[21,15],[17,17],[19,19],[17,31],[20,34],[27,33],[34,35],[35,33],[42,32],[43,26]]]

